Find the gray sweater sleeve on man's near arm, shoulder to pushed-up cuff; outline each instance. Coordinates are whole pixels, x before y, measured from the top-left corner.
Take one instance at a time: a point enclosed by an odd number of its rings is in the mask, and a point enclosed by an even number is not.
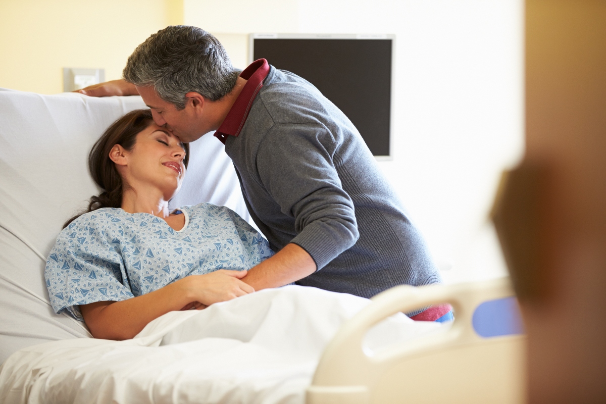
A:
[[[359,237],[353,202],[333,164],[334,150],[322,125],[276,124],[256,154],[262,184],[282,213],[295,219],[296,236],[290,242],[304,248],[318,270]]]

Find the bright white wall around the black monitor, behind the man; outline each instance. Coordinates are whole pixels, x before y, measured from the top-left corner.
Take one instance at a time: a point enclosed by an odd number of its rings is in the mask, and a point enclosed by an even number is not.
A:
[[[379,165],[447,282],[505,273],[487,214],[524,147],[522,18],[522,0],[184,1],[185,24],[238,67],[252,32],[396,35],[393,161]]]

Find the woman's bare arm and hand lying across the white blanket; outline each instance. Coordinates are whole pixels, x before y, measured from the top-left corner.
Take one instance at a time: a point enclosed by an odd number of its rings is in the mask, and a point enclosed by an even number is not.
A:
[[[84,322],[95,338],[124,340],[135,337],[151,320],[169,311],[209,306],[255,290],[242,282],[247,271],[219,270],[191,275],[156,291],[122,300],[81,305]]]

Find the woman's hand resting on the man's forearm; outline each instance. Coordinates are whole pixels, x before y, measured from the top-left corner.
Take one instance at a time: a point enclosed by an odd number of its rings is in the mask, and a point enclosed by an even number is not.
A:
[[[190,275],[175,283],[182,283],[184,293],[192,303],[187,308],[199,308],[195,303],[210,306],[213,303],[224,302],[235,297],[253,293],[255,289],[242,282],[247,271],[218,270],[204,275]]]

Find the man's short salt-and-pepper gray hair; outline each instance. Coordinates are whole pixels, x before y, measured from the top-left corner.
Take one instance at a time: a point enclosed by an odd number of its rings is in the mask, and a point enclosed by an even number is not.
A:
[[[159,98],[185,108],[185,94],[200,93],[216,101],[236,85],[233,68],[221,42],[207,31],[172,25],[151,35],[128,57],[125,81],[153,86]]]

